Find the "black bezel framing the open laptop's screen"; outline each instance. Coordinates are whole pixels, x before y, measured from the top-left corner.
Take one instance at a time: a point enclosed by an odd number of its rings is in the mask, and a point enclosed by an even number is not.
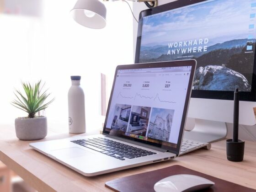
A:
[[[170,146],[167,146],[167,145],[163,145],[162,144],[163,142],[160,142],[161,144],[157,144],[157,143],[145,141],[145,140],[142,140],[142,139],[128,137],[126,135],[120,135],[120,134],[119,135],[112,135],[112,134],[110,134],[110,131],[106,130],[107,119],[108,119],[108,115],[109,115],[110,105],[111,105],[111,101],[112,101],[112,95],[113,95],[114,86],[115,86],[116,77],[117,77],[117,70],[119,70],[119,69],[161,68],[161,67],[181,67],[181,66],[191,66],[192,69],[191,69],[190,79],[189,79],[189,82],[188,82],[188,90],[187,90],[187,95],[186,95],[186,99],[185,99],[185,103],[184,103],[184,110],[183,110],[182,119],[181,119],[181,127],[180,127],[179,138],[178,138],[178,141],[177,141],[177,144],[176,144],[176,148],[170,147]],[[165,149],[165,150],[167,150],[171,153],[179,155],[180,148],[181,148],[181,141],[182,141],[183,133],[185,131],[185,123],[186,123],[186,118],[187,118],[187,111],[188,111],[188,106],[189,106],[189,101],[190,101],[190,96],[191,96],[192,81],[193,81],[194,74],[195,74],[195,68],[196,68],[196,60],[194,60],[194,59],[179,60],[179,61],[155,62],[155,63],[143,63],[143,64],[118,65],[117,68],[116,68],[116,72],[115,72],[115,76],[114,76],[114,80],[113,80],[112,90],[111,90],[109,103],[108,103],[108,107],[107,107],[106,120],[105,120],[105,123],[104,123],[102,133],[104,135],[111,135],[111,136],[119,137],[119,138],[122,138],[122,139],[128,139],[128,140],[136,141],[136,142],[139,142],[139,143],[148,144],[150,146],[155,146],[155,147],[158,147],[158,148],[161,148],[161,149]],[[158,140],[158,141],[160,141],[160,140]]]

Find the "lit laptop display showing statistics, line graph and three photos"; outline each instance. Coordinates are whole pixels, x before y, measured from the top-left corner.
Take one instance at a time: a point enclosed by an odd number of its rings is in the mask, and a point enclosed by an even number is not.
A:
[[[117,70],[105,130],[176,147],[191,69]]]

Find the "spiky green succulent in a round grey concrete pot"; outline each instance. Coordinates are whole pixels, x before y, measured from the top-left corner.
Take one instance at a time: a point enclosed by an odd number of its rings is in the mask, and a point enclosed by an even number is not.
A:
[[[45,103],[50,94],[47,90],[42,91],[41,80],[35,85],[21,83],[25,94],[15,90],[16,99],[11,104],[27,112],[28,116],[15,119],[16,136],[21,140],[43,139],[47,135],[47,118],[36,116],[36,113],[47,108],[54,99]]]

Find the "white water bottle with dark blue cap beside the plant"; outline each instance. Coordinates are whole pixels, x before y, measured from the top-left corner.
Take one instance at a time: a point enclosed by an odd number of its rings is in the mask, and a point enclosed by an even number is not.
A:
[[[69,133],[85,133],[85,94],[80,87],[81,76],[71,76],[69,88]]]

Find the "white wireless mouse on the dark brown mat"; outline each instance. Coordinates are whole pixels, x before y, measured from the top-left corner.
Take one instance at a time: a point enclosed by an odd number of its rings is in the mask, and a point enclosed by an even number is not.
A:
[[[192,192],[214,185],[213,181],[195,175],[173,175],[155,183],[156,192]]]

